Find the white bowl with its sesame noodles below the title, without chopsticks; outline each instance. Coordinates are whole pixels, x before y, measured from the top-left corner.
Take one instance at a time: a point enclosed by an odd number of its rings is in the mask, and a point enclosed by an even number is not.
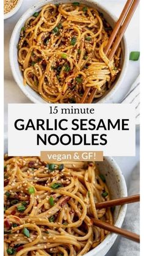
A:
[[[5,145],[4,152],[7,153],[6,140],[4,145]],[[5,173],[5,178],[4,178],[5,189],[4,190],[6,193],[5,200],[4,200],[5,202],[5,222],[4,223],[5,223],[5,234],[6,234],[5,245],[4,245],[5,252],[7,251],[7,249],[13,250],[13,246],[14,246],[16,252],[18,252],[20,255],[30,251],[37,252],[37,250],[41,250],[44,253],[45,249],[47,253],[51,253],[53,250],[52,248],[54,247],[55,249],[58,249],[59,250],[58,252],[61,253],[62,255],[63,253],[64,255],[70,255],[69,246],[71,244],[71,253],[74,252],[75,255],[102,256],[107,254],[110,247],[112,247],[113,243],[115,242],[117,235],[114,233],[107,233],[107,232],[104,232],[104,230],[96,228],[95,224],[91,223],[91,216],[93,216],[93,214],[89,212],[87,207],[85,208],[85,205],[87,205],[87,203],[89,202],[88,200],[93,200],[93,197],[96,196],[94,195],[95,193],[93,194],[93,189],[92,189],[92,187],[94,188],[95,186],[96,188],[98,187],[98,189],[101,189],[99,188],[100,186],[104,186],[104,189],[105,189],[105,191],[102,191],[102,192],[105,193],[104,197],[106,197],[106,199],[104,198],[100,199],[100,202],[101,200],[103,201],[103,200],[117,199],[119,197],[127,196],[127,188],[126,188],[126,183],[125,183],[123,174],[121,173],[120,167],[118,167],[117,163],[115,163],[113,158],[104,157],[103,162],[97,162],[97,163],[90,163],[90,162],[89,163],[82,163],[82,162],[71,163],[70,162],[70,163],[56,163],[55,165],[54,164],[47,165],[45,163],[45,166],[43,166],[43,163],[40,163],[40,160],[35,157],[30,157],[30,158],[28,157],[7,158],[6,157],[4,166],[5,166],[4,167],[4,173]],[[53,169],[54,166],[56,166],[55,170]],[[49,180],[49,171],[46,172],[47,167],[50,169],[50,175],[52,179],[51,181]],[[27,186],[27,178],[29,179],[29,177],[31,177],[32,172],[38,172],[38,168],[40,168],[40,177],[38,178],[37,175],[35,175],[34,180],[37,180],[37,181],[33,180],[34,181],[33,183],[31,180],[30,184],[28,181],[28,186]],[[43,172],[41,169],[43,169]],[[12,174],[10,170],[12,170]],[[56,175],[53,177],[52,175],[54,175],[54,172],[56,172]],[[23,173],[23,178],[21,177],[22,173]],[[48,177],[46,177],[46,173],[48,173]],[[28,174],[28,177],[27,177],[27,174]],[[93,185],[94,174],[96,175],[96,179],[99,180],[99,183],[96,182],[95,186]],[[59,178],[57,178],[56,180],[56,177],[59,177],[59,175],[63,176],[62,180],[60,180]],[[73,182],[73,179],[74,178],[76,179],[76,177],[79,180],[79,188],[76,188],[77,181],[75,180]],[[23,181],[21,180],[21,178]],[[9,179],[10,181],[12,181],[12,186],[10,186],[11,183],[9,184]],[[70,179],[72,181],[70,181]],[[81,183],[82,179],[84,179],[83,183]],[[87,180],[89,181],[89,179],[92,179],[92,184],[89,183],[88,185]],[[45,182],[44,180],[49,181],[49,183],[48,182],[46,183],[46,186],[44,186],[43,184],[43,182]],[[68,182],[68,184],[65,183],[66,181]],[[63,187],[60,187],[61,182],[63,183]],[[21,186],[20,188],[18,187],[15,190],[16,183],[18,184],[18,186],[20,186],[21,184]],[[31,187],[29,187],[30,185]],[[57,189],[56,187],[54,188],[54,186],[56,185],[57,186],[59,185],[59,188],[58,187]],[[50,194],[49,194],[49,191],[45,190],[46,187],[51,188],[51,190],[49,190]],[[34,188],[36,189],[36,191],[39,191],[37,195],[33,194]],[[45,191],[43,191],[43,189]],[[85,192],[85,189],[86,189],[86,192]],[[106,191],[108,194],[107,196],[106,196]],[[13,194],[13,192],[15,194]],[[29,193],[31,194],[30,199],[29,199],[29,196],[27,196],[29,195]],[[14,199],[12,195],[14,196]],[[41,203],[41,200],[45,200],[45,197],[46,198],[48,197],[48,199],[46,199],[48,201],[46,201],[47,203],[44,205],[43,203]],[[23,203],[24,198],[26,199],[25,203]],[[39,199],[41,198],[40,202],[38,198]],[[49,198],[51,198],[51,200]],[[38,200],[37,207],[35,207],[33,199]],[[29,200],[31,201],[31,203],[28,202]],[[99,202],[99,200],[97,202]],[[49,203],[51,204],[50,208],[49,208]],[[76,205],[78,206],[78,208],[75,208]],[[62,209],[60,209],[60,206]],[[75,223],[75,225],[77,224],[76,226],[71,224],[70,219],[69,220],[67,219],[68,217],[66,218],[68,214],[67,209],[68,209],[68,212],[70,213],[69,218],[72,218],[73,220],[72,223]],[[75,215],[77,216],[76,212],[78,212],[80,209],[81,209],[82,216],[79,216],[79,218],[77,219],[77,217],[74,217],[74,216]],[[26,210],[26,213],[25,213],[25,210]],[[20,214],[18,213],[18,211]],[[46,215],[45,215],[45,211],[46,211]],[[87,211],[87,214],[85,213],[85,211]],[[14,212],[15,212],[15,216],[13,217],[12,214],[14,214]],[[38,214],[40,214],[40,217],[38,216]],[[86,214],[86,217],[81,224],[80,219],[83,218],[84,214]],[[126,214],[126,205],[123,205],[121,207],[115,207],[115,210],[108,208],[106,210],[106,213],[104,213],[104,209],[101,209],[99,211],[96,210],[96,214],[98,214],[99,219],[102,218],[102,220],[105,219],[108,222],[112,221],[115,226],[121,227],[124,221],[124,216]],[[20,218],[20,221],[19,221],[19,218]],[[45,224],[44,224],[43,218],[45,219]],[[59,219],[60,223],[57,222],[57,218],[61,219],[61,220]],[[17,225],[15,226],[13,225],[13,229],[11,233],[9,232],[9,229],[10,229],[10,225],[12,225],[13,223],[14,225],[15,224]],[[21,226],[20,226],[20,223],[21,223]],[[63,225],[61,225],[61,223]],[[73,234],[76,234],[76,235],[71,236],[71,233],[69,233],[70,230],[67,229],[67,225],[73,225],[73,227],[71,227],[71,230]],[[25,227],[25,230],[24,230],[24,227]],[[55,229],[53,229],[53,227],[55,227]],[[34,241],[35,232],[33,230],[39,230],[39,229],[40,229],[39,232],[42,233],[41,240]],[[93,236],[90,235],[91,229],[93,231]],[[17,241],[17,237],[16,237],[17,235],[16,235],[15,241],[13,241],[13,234],[15,234],[16,231],[18,231],[20,238],[18,238],[18,241]],[[27,235],[27,238],[26,238],[26,235]],[[31,241],[29,240],[32,241],[33,246],[31,245]],[[7,241],[9,241],[9,243],[7,243]],[[24,244],[25,246],[23,247]],[[67,251],[67,253],[65,251]],[[4,254],[4,255],[7,255],[7,254]]]

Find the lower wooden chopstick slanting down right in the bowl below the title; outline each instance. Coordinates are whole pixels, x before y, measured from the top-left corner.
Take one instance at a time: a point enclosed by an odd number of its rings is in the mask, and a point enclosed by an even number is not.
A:
[[[120,229],[119,227],[115,227],[114,225],[111,225],[104,221],[99,221],[98,219],[92,218],[92,221],[93,221],[93,223],[96,224],[97,227],[100,227],[101,229],[108,230],[110,232],[124,236],[125,238],[128,238],[129,240],[140,243],[140,236],[135,233],[129,232],[128,230],[125,230],[125,229]]]

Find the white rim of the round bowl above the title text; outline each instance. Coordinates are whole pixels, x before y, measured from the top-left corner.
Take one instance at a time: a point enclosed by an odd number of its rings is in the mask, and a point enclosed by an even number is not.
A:
[[[23,1],[23,0],[20,0],[20,1]],[[38,97],[36,98],[35,95],[33,95],[31,92],[29,92],[29,90],[26,89],[26,86],[24,86],[23,82],[20,81],[20,79],[17,75],[17,70],[15,68],[15,64],[13,65],[13,63],[15,63],[15,62],[13,62],[13,49],[15,49],[16,35],[19,33],[20,27],[23,26],[24,21],[26,21],[28,16],[31,16],[31,14],[33,12],[35,12],[37,9],[39,9],[40,7],[42,7],[43,5],[45,5],[49,2],[51,2],[51,0],[43,0],[41,2],[39,1],[37,4],[32,5],[32,7],[30,7],[26,12],[24,12],[23,15],[21,16],[20,20],[18,20],[18,22],[16,23],[16,25],[13,29],[13,32],[12,32],[12,36],[10,38],[9,56],[10,56],[10,67],[11,67],[11,70],[12,70],[13,78],[15,79],[16,84],[18,84],[18,86],[20,87],[22,92],[33,103],[47,103],[47,102],[43,98],[41,98],[41,96],[39,94],[38,94]],[[60,0],[56,0],[56,2],[59,3]],[[65,1],[65,2],[67,2],[67,1]],[[79,2],[84,2],[84,1],[80,0]],[[112,18],[112,20],[114,22],[117,22],[117,20],[118,20],[117,16],[115,16],[111,12],[109,12],[109,10],[107,10],[106,7],[104,7],[102,4],[99,4],[99,2],[97,2],[96,0],[87,0],[86,4],[88,4],[88,2],[90,4],[96,5],[99,9],[108,13],[108,15]],[[124,45],[124,56],[123,56],[123,66],[122,66],[120,76],[118,77],[117,82],[115,83],[115,86],[113,86],[113,88],[110,89],[109,92],[107,92],[107,94],[104,95],[103,98],[101,98],[98,101],[98,103],[107,103],[107,101],[109,101],[112,98],[113,94],[120,87],[121,83],[123,82],[124,76],[126,75],[126,71],[127,71],[127,68],[128,68],[128,62],[129,62],[129,51],[128,51],[128,44],[126,42],[125,35],[123,35],[122,40],[123,40],[123,45]]]

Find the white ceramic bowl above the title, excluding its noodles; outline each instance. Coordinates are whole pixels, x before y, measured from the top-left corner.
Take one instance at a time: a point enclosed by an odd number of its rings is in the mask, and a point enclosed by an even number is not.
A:
[[[27,18],[29,18],[33,13],[40,10],[41,7],[45,4],[51,3],[57,4],[59,2],[74,2],[73,0],[42,0],[38,2],[38,4],[33,5],[27,12],[21,16],[18,23],[16,23],[16,26],[13,30],[12,37],[10,39],[10,66],[12,69],[13,77],[15,78],[16,83],[20,87],[20,89],[23,91],[23,93],[34,103],[46,103],[41,96],[31,89],[30,86],[24,86],[23,84],[23,76],[19,68],[18,64],[18,41],[20,38],[20,31],[21,27],[24,26],[25,21]],[[117,21],[117,17],[113,16],[112,13],[110,13],[107,9],[103,7],[103,5],[96,2],[96,0],[86,0],[86,1],[79,1],[81,3],[87,4],[92,6],[93,8],[98,9],[100,12],[104,14],[104,17],[109,22],[109,24],[113,27],[115,22]],[[106,93],[102,98],[97,100],[98,103],[107,103],[109,101],[112,101],[112,96],[118,89],[118,87],[121,86],[121,83],[123,82],[124,76],[126,75],[126,70],[128,68],[128,61],[129,61],[129,53],[128,53],[128,45],[126,43],[126,38],[123,37],[123,40],[121,42],[122,49],[123,49],[123,64],[121,67],[120,75],[118,75],[117,80],[113,83],[112,88],[109,90],[109,92]],[[94,101],[95,102],[95,101]]]

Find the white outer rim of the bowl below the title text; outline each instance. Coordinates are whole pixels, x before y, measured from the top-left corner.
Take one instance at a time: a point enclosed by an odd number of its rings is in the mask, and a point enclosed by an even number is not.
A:
[[[118,166],[117,162],[115,161],[115,159],[113,159],[110,156],[104,156],[104,159],[106,159],[107,163],[110,164],[110,166],[112,166],[113,169],[115,169],[115,172],[116,172],[115,175],[118,175],[118,177],[120,179],[120,186],[121,186],[121,191],[123,192],[123,197],[128,196],[126,181],[125,181],[123,173],[121,172],[121,169]],[[127,205],[121,206],[120,211],[118,213],[117,221],[115,221],[115,226],[120,228],[121,225],[123,224],[123,221],[124,221],[124,218],[126,215],[126,209],[127,209]],[[110,246],[110,248],[111,248],[113,243],[115,243],[117,236],[118,235],[115,233],[110,233],[106,238],[104,238],[104,240],[101,244],[96,246],[91,251],[87,252],[87,254],[85,254],[84,256],[95,256],[96,254],[100,253],[104,249],[104,247],[106,247],[107,244],[109,244],[109,243],[111,243],[111,246]],[[109,250],[110,250],[110,248],[109,248]]]

